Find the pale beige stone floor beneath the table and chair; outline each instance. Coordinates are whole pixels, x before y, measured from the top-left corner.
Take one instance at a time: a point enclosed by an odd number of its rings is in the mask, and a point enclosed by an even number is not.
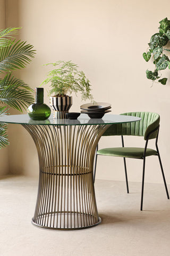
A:
[[[58,231],[31,224],[38,180],[0,179],[1,256],[169,256],[170,201],[162,184],[146,183],[140,211],[141,183],[96,180],[100,225]],[[170,185],[168,185],[170,190]]]

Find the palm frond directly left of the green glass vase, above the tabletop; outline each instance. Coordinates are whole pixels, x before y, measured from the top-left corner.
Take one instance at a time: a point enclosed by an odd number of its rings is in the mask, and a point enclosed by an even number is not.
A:
[[[0,79],[0,102],[19,110],[33,103],[32,89],[21,79],[7,74]]]

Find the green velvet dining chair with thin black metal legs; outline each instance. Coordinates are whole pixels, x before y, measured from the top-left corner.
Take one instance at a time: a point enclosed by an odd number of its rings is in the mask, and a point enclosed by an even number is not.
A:
[[[157,145],[160,117],[158,114],[151,113],[151,112],[131,112],[131,113],[124,113],[121,115],[138,116],[141,118],[141,121],[133,122],[133,123],[113,124],[105,131],[103,136],[121,135],[122,147],[103,148],[103,149],[98,150],[98,146],[97,146],[95,168],[94,168],[94,181],[95,181],[95,175],[96,175],[96,164],[97,164],[97,156],[98,155],[123,157],[126,188],[127,188],[127,192],[129,193],[128,175],[127,175],[127,170],[126,170],[125,158],[142,159],[143,160],[143,174],[142,174],[142,191],[141,191],[141,206],[140,206],[140,210],[142,211],[143,188],[144,188],[144,179],[145,179],[145,162],[146,162],[147,156],[158,156],[160,169],[161,169],[162,175],[163,175],[167,198],[169,199],[165,175],[164,175],[163,166],[162,166],[162,162],[161,162],[160,154],[159,154],[159,150],[158,150],[158,145]],[[133,135],[133,136],[144,137],[144,140],[146,141],[145,147],[144,148],[124,147],[123,135]],[[151,149],[151,148],[147,147],[148,141],[150,139],[156,139],[155,140],[156,149]]]

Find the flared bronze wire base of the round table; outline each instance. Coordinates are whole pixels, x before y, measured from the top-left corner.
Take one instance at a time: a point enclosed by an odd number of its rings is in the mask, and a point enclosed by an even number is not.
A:
[[[98,225],[93,167],[101,135],[110,126],[27,125],[39,158],[39,185],[32,223],[73,230]]]

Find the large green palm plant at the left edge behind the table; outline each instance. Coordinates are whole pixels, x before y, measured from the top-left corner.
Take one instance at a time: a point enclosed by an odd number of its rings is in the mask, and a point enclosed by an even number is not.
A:
[[[22,112],[33,102],[31,87],[12,74],[25,68],[35,54],[32,45],[14,37],[19,29],[0,30],[0,115],[8,114],[8,107]],[[0,123],[0,148],[7,145],[7,126]]]

